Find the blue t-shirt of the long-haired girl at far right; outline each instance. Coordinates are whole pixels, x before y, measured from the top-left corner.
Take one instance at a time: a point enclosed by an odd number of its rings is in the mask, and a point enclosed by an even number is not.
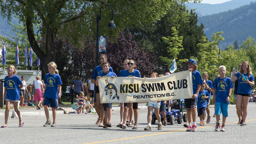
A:
[[[244,77],[239,74],[236,73],[234,76],[236,76],[238,78],[238,94],[251,94],[251,86],[246,83],[246,79],[244,79]],[[244,76],[249,79],[249,81],[254,80],[253,75],[251,74],[251,76],[249,77],[248,73],[244,74]]]

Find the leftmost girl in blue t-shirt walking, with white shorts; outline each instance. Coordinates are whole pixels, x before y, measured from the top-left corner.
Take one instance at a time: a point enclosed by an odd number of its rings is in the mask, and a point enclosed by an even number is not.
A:
[[[10,65],[7,68],[7,72],[8,72],[8,76],[5,77],[5,83],[4,83],[4,87],[5,87],[4,99],[6,101],[5,125],[1,126],[1,128],[7,127],[7,121],[8,121],[11,102],[13,103],[14,111],[18,115],[18,121],[19,121],[18,127],[23,127],[24,122],[21,117],[21,112],[19,112],[18,110],[19,89],[23,87],[23,83],[22,83],[22,80],[16,75],[16,69],[13,65]]]

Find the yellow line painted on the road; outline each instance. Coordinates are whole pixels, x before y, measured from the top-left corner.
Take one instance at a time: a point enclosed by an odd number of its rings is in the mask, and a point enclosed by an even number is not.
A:
[[[250,119],[250,120],[246,120],[246,121],[253,121],[253,120],[256,120],[256,119]],[[226,124],[233,124],[233,123],[237,123],[237,122],[230,122],[230,123],[226,123]],[[212,127],[212,126],[215,126],[215,125],[208,125],[208,126],[198,127],[198,129],[207,128],[207,127]],[[168,132],[162,132],[162,133],[147,134],[147,135],[141,135],[141,136],[126,137],[126,138],[119,138],[119,139],[112,139],[112,140],[104,140],[104,141],[89,142],[89,143],[84,143],[84,144],[102,143],[102,142],[118,141],[118,140],[132,139],[132,138],[140,138],[140,137],[146,137],[146,136],[152,136],[152,135],[160,135],[160,134],[174,133],[174,132],[185,131],[185,130],[187,130],[187,129],[176,130],[176,131],[168,131]]]

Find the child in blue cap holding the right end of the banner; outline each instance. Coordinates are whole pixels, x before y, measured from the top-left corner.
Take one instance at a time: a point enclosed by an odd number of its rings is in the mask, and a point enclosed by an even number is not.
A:
[[[201,73],[196,70],[198,68],[197,62],[195,59],[189,59],[186,64],[188,64],[188,70],[192,72],[192,83],[193,83],[193,95],[192,98],[185,99],[185,108],[187,109],[187,120],[188,128],[186,131],[195,132],[196,131],[196,101],[199,90],[202,85]],[[193,125],[191,125],[191,116],[193,120]]]

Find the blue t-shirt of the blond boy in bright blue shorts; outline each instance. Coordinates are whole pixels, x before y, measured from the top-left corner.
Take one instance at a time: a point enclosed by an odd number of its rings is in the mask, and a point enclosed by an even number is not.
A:
[[[233,88],[233,84],[229,77],[223,79],[220,77],[215,78],[213,83],[213,89],[216,89],[215,101],[229,104],[226,99],[229,94],[229,89],[231,88]]]

